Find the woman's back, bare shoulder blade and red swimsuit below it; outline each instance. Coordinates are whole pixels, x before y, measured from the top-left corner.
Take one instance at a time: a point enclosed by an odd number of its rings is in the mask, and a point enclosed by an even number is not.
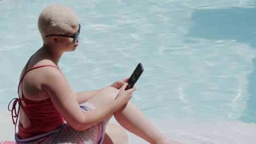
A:
[[[42,85],[44,73],[59,68],[49,60],[37,59],[31,58],[28,61],[18,86],[21,100],[18,137],[21,139],[49,132],[64,122]]]

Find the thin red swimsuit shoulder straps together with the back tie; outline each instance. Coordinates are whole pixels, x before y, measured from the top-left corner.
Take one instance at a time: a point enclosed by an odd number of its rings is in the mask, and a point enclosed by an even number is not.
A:
[[[33,55],[32,55],[32,56],[33,56]],[[32,58],[32,56],[30,57],[30,59]],[[21,77],[21,79],[20,79],[20,82],[19,82],[19,85],[18,85],[18,95],[19,95],[19,87],[20,87],[20,84],[21,84],[21,86],[23,87],[22,81],[23,81],[25,75],[26,75],[29,71],[31,71],[31,70],[33,70],[33,69],[37,69],[37,68],[42,68],[42,67],[54,67],[54,68],[59,69],[59,67],[56,67],[56,66],[54,66],[54,65],[46,64],[46,65],[39,65],[39,66],[37,66],[37,67],[32,67],[32,68],[30,68],[29,70],[26,71],[26,69],[27,69],[27,67],[28,67],[28,63],[30,62],[30,59],[28,59],[28,62],[27,62],[27,64],[26,64],[26,68],[25,68],[25,70],[24,70],[25,72],[24,72],[24,74],[22,75],[22,77]],[[23,88],[22,88],[22,87],[21,87],[21,92],[22,92],[22,97],[24,97]],[[13,101],[13,107],[11,107],[11,109],[10,109],[10,104],[11,104],[12,101]],[[19,104],[19,106],[18,106],[18,111],[16,111],[16,104]],[[8,110],[11,112],[11,118],[13,119],[13,124],[15,124],[15,128],[14,128],[15,133],[16,133],[17,121],[18,121],[18,118],[19,118],[20,105],[22,105],[22,104],[21,104],[20,95],[19,95],[19,98],[14,98],[14,99],[12,99],[12,100],[10,101],[9,105],[8,105]],[[16,118],[16,119],[15,119],[15,118]]]

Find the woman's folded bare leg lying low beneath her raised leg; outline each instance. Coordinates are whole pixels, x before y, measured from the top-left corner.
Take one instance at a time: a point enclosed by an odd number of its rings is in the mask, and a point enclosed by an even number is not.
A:
[[[126,130],[116,124],[107,124],[103,144],[128,143]]]

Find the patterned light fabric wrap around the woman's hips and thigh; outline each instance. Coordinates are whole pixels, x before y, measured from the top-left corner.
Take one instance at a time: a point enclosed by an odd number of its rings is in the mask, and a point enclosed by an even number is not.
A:
[[[96,109],[96,107],[88,102],[80,105],[83,111]],[[28,139],[19,140],[15,136],[16,143],[86,143],[101,144],[104,139],[106,130],[106,122],[102,121],[86,130],[78,131],[70,127],[67,123],[63,123],[59,128],[46,134],[33,136]]]

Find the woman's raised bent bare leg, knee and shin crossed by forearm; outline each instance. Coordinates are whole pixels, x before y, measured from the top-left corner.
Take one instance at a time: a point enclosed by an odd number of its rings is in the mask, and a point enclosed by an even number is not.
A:
[[[96,107],[102,106],[111,103],[117,97],[118,92],[116,88],[107,87],[95,93],[88,101]],[[131,101],[113,114],[122,127],[149,143],[176,143],[166,139]]]

